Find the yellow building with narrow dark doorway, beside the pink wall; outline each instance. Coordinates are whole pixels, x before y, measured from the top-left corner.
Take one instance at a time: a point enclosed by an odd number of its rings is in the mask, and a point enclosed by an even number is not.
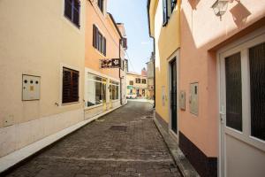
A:
[[[170,83],[170,78],[177,79],[178,55],[180,47],[178,4],[171,1],[149,0],[148,19],[150,36],[155,38],[155,115],[163,125],[170,125],[170,130],[177,135],[177,108],[170,112],[170,96],[177,94],[177,81]],[[175,2],[175,1],[174,1]],[[167,8],[167,11],[163,9]],[[171,72],[171,71],[173,71]],[[172,75],[173,73],[173,75]],[[174,93],[170,94],[171,87]],[[173,96],[177,102],[177,96]],[[165,126],[165,128],[168,128]]]

